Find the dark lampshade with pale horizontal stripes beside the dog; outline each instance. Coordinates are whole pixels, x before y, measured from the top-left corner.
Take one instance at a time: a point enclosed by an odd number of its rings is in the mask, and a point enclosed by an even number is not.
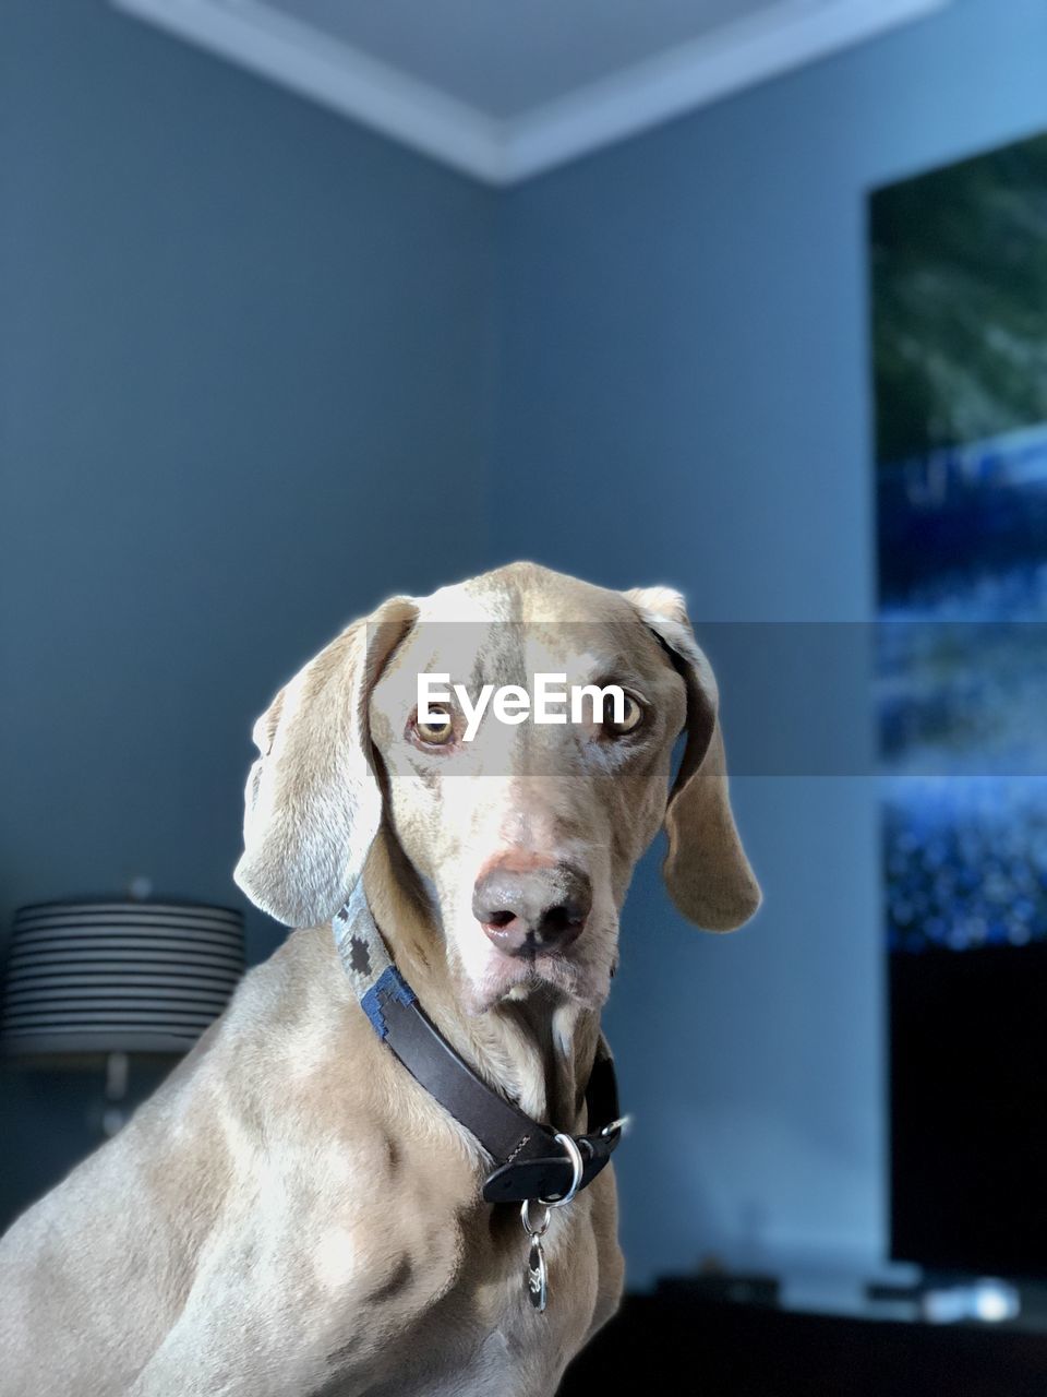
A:
[[[243,916],[190,902],[15,912],[0,1053],[184,1053],[244,970]]]

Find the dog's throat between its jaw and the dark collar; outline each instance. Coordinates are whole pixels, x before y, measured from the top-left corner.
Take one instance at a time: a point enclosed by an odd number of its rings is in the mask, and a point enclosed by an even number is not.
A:
[[[395,840],[383,833],[367,862],[364,888],[422,1007],[466,1062],[528,1115],[557,1130],[581,1129],[599,1013],[542,989],[468,1014],[438,921],[402,863]]]

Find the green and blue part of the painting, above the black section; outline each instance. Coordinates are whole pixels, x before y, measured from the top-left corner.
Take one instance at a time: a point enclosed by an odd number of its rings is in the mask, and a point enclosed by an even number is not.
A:
[[[870,201],[888,942],[1047,937],[1047,136]]]

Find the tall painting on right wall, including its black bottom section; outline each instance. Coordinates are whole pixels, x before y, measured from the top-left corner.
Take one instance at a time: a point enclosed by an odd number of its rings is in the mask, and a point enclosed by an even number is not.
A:
[[[1047,1266],[1047,136],[870,201],[892,1243]]]

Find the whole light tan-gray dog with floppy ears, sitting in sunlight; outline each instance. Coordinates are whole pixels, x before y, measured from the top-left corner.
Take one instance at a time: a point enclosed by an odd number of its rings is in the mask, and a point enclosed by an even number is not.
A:
[[[454,698],[420,718],[419,675],[472,693],[539,672],[623,703],[544,725],[489,712],[470,742]],[[483,1200],[483,1147],[374,1032],[332,918],[363,891],[472,1071],[585,1130],[618,916],[659,828],[691,922],[738,926],[761,898],[684,602],[530,563],[394,598],[276,694],[254,742],[235,877],[300,929],[7,1234],[0,1390],[549,1397],[620,1301],[613,1169],[546,1214],[537,1310],[518,1206]]]

